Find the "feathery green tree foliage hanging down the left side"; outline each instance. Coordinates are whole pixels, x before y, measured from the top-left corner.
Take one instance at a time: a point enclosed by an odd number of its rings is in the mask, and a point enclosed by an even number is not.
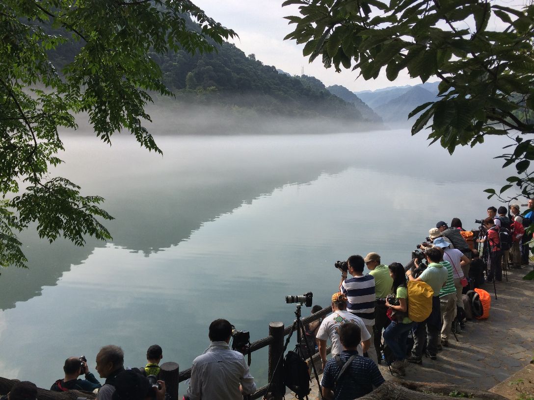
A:
[[[190,16],[198,29],[186,26]],[[50,29],[61,34],[50,33]],[[41,237],[110,238],[98,196],[50,178],[62,161],[58,127],[75,129],[87,113],[97,137],[111,143],[128,131],[161,153],[142,124],[148,92],[171,94],[149,53],[213,50],[235,33],[189,0],[4,0],[0,3],[0,266],[25,265],[15,233],[36,222]],[[62,43],[75,53],[57,69],[50,51]]]

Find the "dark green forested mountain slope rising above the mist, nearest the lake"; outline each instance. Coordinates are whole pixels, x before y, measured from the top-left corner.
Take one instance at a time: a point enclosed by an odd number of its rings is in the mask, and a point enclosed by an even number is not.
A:
[[[186,18],[186,17],[184,17]],[[186,18],[190,29],[200,30]],[[60,28],[47,33],[69,37]],[[53,65],[61,70],[80,51],[80,42],[68,41],[50,51]],[[161,68],[163,82],[175,95],[174,107],[213,106],[238,118],[280,116],[323,118],[329,121],[371,122],[359,108],[335,96],[314,77],[293,77],[274,66],[264,65],[254,54],[248,57],[231,43],[214,44],[216,51],[191,55],[185,51],[150,53]],[[158,103],[164,100],[158,99]]]

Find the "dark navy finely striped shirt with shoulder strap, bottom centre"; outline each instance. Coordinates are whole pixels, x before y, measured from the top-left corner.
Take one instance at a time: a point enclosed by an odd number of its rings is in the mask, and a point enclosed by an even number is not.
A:
[[[344,364],[355,354],[357,354],[356,351],[343,350],[339,356]],[[337,365],[335,358],[331,358],[326,362],[323,380],[321,380],[321,386],[335,390],[334,400],[352,400],[365,396],[373,391],[373,386],[379,387],[384,383],[382,374],[370,358],[357,356],[352,360],[334,388],[340,371],[341,366]]]

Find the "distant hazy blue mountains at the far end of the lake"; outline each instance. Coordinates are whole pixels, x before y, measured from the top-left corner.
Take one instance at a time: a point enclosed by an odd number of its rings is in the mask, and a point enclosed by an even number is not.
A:
[[[434,93],[418,85],[411,87],[405,93],[376,107],[374,110],[382,117],[384,122],[406,123],[408,115],[415,107],[435,100],[436,95]],[[410,122],[415,122],[415,117],[412,117]]]

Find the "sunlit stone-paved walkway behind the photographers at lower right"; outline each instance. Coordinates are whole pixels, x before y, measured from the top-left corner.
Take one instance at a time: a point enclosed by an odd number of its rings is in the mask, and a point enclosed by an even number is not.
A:
[[[511,270],[509,282],[496,282],[497,300],[493,285],[486,284],[484,290],[491,294],[489,319],[468,321],[458,342],[452,335],[436,361],[423,357],[422,365],[406,368],[404,378],[488,390],[528,365],[534,356],[534,281],[522,278],[531,268]],[[384,363],[379,367],[384,379],[393,378]],[[317,396],[315,383],[309,399]],[[286,395],[287,400],[294,398]]]

